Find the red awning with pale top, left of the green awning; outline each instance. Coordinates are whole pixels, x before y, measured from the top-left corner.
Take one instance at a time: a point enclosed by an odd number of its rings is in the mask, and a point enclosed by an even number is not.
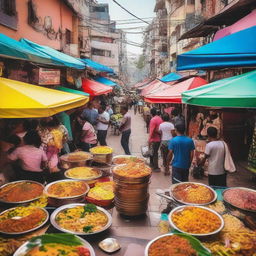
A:
[[[181,103],[181,93],[207,84],[201,77],[192,77],[170,88],[146,95],[144,100],[149,103]]]

